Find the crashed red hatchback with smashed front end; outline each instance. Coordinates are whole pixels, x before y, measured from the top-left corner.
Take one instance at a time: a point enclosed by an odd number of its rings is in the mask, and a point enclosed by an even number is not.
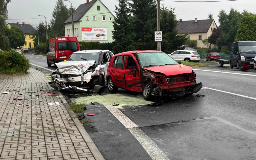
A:
[[[156,96],[190,95],[198,92],[196,73],[161,51],[129,51],[114,55],[107,69],[110,92],[123,88],[143,92],[145,100]]]

